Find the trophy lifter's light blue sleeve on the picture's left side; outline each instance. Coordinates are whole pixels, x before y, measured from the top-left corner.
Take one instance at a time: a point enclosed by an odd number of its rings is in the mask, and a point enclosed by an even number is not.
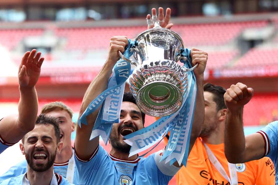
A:
[[[98,168],[103,165],[105,155],[107,156],[107,152],[100,145],[95,149],[91,158],[87,161],[78,158],[74,152],[78,184],[87,184],[90,179],[95,178],[95,172],[97,172]]]

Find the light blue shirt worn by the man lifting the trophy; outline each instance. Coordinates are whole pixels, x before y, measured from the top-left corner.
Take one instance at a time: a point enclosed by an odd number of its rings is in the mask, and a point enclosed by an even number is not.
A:
[[[78,185],[167,185],[180,168],[159,163],[162,154],[160,151],[147,158],[127,161],[107,154],[99,145],[89,161],[81,160],[75,154]]]

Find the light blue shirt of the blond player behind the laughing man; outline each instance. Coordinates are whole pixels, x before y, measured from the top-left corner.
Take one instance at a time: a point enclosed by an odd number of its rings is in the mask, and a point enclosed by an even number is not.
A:
[[[67,175],[67,169],[68,169],[68,162],[65,162],[63,164],[54,163],[54,172],[61,175],[62,177],[66,178]],[[12,177],[17,177],[21,174],[24,174],[27,172],[27,161],[24,159],[23,161],[17,163],[15,166],[11,167],[6,173],[0,176],[0,182],[9,179]],[[74,178],[73,183],[77,184],[77,169],[75,166],[74,169]]]

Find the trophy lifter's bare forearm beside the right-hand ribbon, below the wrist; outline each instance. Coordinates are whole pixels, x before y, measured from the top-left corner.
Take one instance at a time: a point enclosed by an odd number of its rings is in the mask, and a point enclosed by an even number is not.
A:
[[[196,78],[197,93],[195,111],[192,123],[192,130],[190,136],[189,152],[192,149],[196,139],[199,137],[204,123],[204,89],[203,89],[203,77]],[[189,153],[188,153],[189,154]]]

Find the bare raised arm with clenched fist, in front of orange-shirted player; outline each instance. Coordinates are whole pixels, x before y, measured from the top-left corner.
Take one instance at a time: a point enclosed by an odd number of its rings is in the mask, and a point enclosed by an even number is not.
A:
[[[224,94],[227,106],[225,130],[225,156],[231,163],[243,163],[264,156],[264,139],[259,133],[244,136],[243,106],[253,96],[253,89],[245,84],[231,85]]]

